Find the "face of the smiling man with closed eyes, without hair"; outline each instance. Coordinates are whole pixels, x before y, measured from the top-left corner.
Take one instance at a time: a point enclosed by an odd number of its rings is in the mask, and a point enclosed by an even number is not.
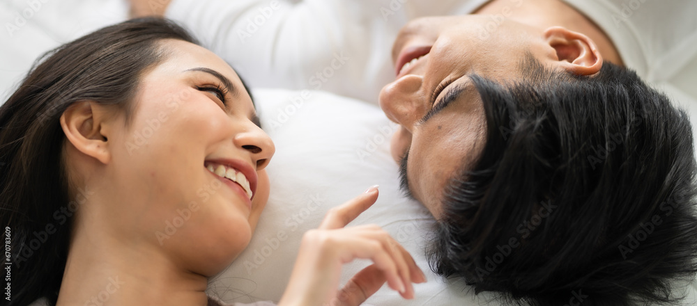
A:
[[[401,125],[392,156],[403,166],[405,187],[436,218],[445,186],[473,166],[486,139],[484,108],[468,76],[518,81],[526,52],[543,65],[559,61],[543,29],[504,20],[487,31],[492,20],[417,19],[401,29],[392,49],[397,79],[379,98],[388,118]]]

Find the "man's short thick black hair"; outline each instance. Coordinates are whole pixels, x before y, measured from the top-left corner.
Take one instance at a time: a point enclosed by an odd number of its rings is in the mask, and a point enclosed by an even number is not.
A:
[[[486,145],[445,188],[431,268],[507,304],[677,303],[697,271],[687,115],[611,63],[521,68],[512,84],[472,76]]]

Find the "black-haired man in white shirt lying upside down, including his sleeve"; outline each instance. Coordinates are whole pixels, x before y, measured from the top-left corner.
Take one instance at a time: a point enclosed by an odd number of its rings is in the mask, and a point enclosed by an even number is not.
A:
[[[360,3],[370,9],[342,14],[314,1],[286,8],[270,3],[270,10],[260,7],[256,15],[251,2],[222,13],[184,2],[174,1],[167,14],[194,31],[201,16],[238,18],[240,26],[228,24],[228,30],[242,32],[199,26],[218,53],[234,51],[233,65],[260,56],[259,48],[246,51],[246,43],[314,43],[328,50],[319,56],[291,50],[298,61],[275,58],[252,73],[251,83],[331,90],[368,101],[376,96],[375,86],[388,82],[384,69],[360,69],[360,63],[379,60],[388,44],[389,31],[381,36],[374,30],[392,29],[390,20],[420,17],[388,1]],[[476,291],[498,291],[533,305],[670,301],[673,280],[697,271],[693,137],[687,115],[640,77],[661,83],[682,75],[682,65],[693,65],[697,24],[687,16],[696,5],[462,5],[481,16],[415,19],[395,33],[397,79],[379,95],[385,114],[401,125],[392,155],[402,165],[405,190],[438,220],[431,264],[443,275],[464,277]],[[308,7],[337,18],[303,16],[335,27],[278,30],[282,20],[293,19],[289,13],[278,17],[284,10],[302,15]],[[359,19],[367,25],[353,29]],[[346,37],[335,38],[332,31]],[[289,36],[263,40],[280,33]],[[366,37],[378,42],[370,45]],[[305,68],[294,69],[298,62]],[[355,81],[357,74],[367,81]],[[347,80],[353,80],[346,86],[353,92],[337,85]]]

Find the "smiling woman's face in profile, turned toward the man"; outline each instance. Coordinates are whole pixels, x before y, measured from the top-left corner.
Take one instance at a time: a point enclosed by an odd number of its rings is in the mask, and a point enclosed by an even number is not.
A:
[[[162,46],[167,59],[141,77],[130,122],[109,131],[105,192],[118,204],[103,222],[118,239],[213,275],[250,241],[275,149],[227,63],[188,42]]]

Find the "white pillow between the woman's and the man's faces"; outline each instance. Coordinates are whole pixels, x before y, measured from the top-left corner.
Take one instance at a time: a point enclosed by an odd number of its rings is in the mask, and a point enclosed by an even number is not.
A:
[[[380,108],[309,90],[254,90],[253,95],[263,128],[276,145],[267,168],[270,198],[252,242],[210,280],[210,294],[229,303],[277,302],[302,234],[319,226],[330,207],[379,184],[376,204],[349,226],[383,227],[411,252],[428,282],[415,285],[414,300],[404,300],[383,286],[365,305],[479,305],[467,287],[448,286],[431,272],[424,246],[434,221],[421,204],[399,191],[399,170],[389,152],[396,124]],[[368,264],[344,266],[342,284]]]

